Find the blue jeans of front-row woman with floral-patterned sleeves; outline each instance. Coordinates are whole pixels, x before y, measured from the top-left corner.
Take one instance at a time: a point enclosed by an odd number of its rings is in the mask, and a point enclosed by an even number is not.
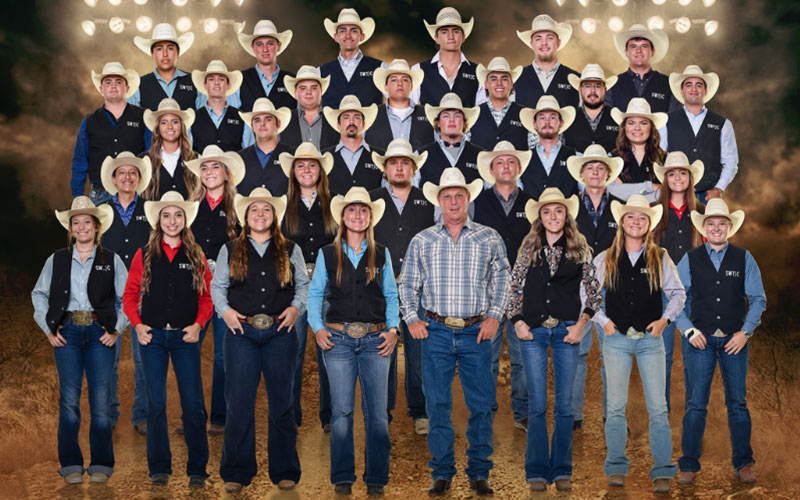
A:
[[[520,340],[525,378],[528,380],[530,414],[525,450],[525,480],[552,483],[572,477],[572,386],[578,364],[578,344],[564,343],[567,326],[543,326],[531,330],[533,340]],[[547,348],[553,350],[553,437],[547,443]]]

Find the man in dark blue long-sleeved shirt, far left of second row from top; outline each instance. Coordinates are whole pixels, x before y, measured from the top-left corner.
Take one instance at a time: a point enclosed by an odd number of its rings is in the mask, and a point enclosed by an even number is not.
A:
[[[81,121],[72,154],[72,197],[83,195],[86,177],[89,198],[99,205],[111,198],[100,181],[100,166],[108,156],[122,151],[139,154],[150,147],[150,130],[144,126],[144,110],[125,99],[139,88],[139,74],[118,62],[109,62],[103,71],[92,71],[92,82],[103,96],[103,106]]]

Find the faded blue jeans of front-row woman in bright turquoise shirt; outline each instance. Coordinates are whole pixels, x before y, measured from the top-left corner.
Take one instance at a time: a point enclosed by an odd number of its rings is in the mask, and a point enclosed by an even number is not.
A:
[[[378,354],[380,333],[354,339],[331,332],[332,348],[323,351],[331,388],[331,483],[354,483],[353,410],[356,377],[361,384],[364,413],[364,483],[389,482],[389,415],[386,412],[389,356]]]

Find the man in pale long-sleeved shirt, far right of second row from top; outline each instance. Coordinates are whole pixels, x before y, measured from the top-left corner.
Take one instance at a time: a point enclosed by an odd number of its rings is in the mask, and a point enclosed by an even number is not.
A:
[[[705,173],[696,179],[695,192],[701,203],[719,198],[739,170],[731,121],[705,107],[719,89],[719,76],[692,64],[683,73],[670,74],[669,86],[683,107],[671,111],[667,126],[659,130],[661,148],[683,151],[692,162],[702,160]]]

